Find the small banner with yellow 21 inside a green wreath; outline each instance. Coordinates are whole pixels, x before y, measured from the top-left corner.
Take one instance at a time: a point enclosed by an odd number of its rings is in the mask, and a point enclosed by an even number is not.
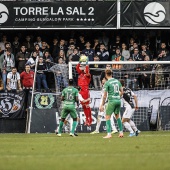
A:
[[[34,108],[37,108],[37,109],[57,108],[56,95],[53,95],[52,93],[35,94]]]

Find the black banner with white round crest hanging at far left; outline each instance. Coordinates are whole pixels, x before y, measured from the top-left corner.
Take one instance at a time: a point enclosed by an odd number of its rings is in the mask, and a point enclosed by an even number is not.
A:
[[[24,118],[24,100],[24,92],[0,93],[0,118]]]

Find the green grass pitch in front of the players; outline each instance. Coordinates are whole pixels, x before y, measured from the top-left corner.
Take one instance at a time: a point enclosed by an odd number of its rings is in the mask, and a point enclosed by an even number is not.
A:
[[[170,170],[170,132],[0,134],[0,170]]]

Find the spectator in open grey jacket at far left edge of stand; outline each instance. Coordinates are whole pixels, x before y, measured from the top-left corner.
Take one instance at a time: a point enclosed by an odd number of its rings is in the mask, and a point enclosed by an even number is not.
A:
[[[2,54],[0,57],[0,63],[2,63],[2,80],[4,89],[6,89],[6,78],[7,74],[12,71],[12,68],[15,67],[15,59],[12,54],[12,49],[8,48],[5,54]]]

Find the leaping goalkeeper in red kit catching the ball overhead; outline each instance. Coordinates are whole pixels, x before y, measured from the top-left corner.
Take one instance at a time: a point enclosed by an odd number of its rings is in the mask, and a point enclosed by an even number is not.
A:
[[[85,61],[82,62],[81,58],[84,58]],[[85,55],[80,56],[80,61],[76,66],[76,70],[79,74],[78,76],[78,86],[80,88],[79,101],[82,104],[82,108],[86,116],[85,125],[90,126],[92,123],[91,108],[89,106],[90,104],[89,84],[91,80],[91,74],[89,73],[88,60]]]

